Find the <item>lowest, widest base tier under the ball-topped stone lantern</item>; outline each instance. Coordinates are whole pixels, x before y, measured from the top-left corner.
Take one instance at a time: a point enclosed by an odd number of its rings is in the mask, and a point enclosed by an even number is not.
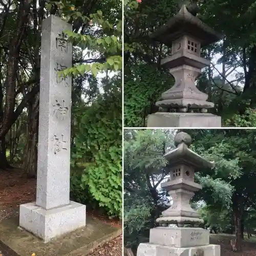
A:
[[[186,248],[177,248],[157,244],[141,243],[137,256],[220,256],[220,245],[204,245]]]

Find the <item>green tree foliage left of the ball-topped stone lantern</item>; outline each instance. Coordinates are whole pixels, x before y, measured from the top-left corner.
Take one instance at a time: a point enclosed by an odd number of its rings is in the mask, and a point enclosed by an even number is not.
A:
[[[157,188],[166,176],[163,154],[173,147],[173,133],[125,130],[124,139],[124,244],[136,250],[148,241],[162,210],[164,198]]]

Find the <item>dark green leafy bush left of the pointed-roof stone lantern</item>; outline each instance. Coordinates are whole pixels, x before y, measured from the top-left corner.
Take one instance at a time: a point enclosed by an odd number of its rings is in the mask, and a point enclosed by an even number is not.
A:
[[[133,65],[124,77],[124,125],[144,127],[145,117],[159,99],[162,89],[170,87],[173,79],[155,66]],[[150,86],[148,86],[150,84]]]

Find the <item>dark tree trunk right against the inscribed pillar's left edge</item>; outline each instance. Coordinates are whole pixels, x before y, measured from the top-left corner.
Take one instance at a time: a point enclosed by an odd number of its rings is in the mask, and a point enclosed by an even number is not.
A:
[[[23,168],[26,170],[28,178],[36,178],[37,170],[37,141],[39,124],[39,94],[35,97],[34,103],[28,104],[28,127],[26,154]]]

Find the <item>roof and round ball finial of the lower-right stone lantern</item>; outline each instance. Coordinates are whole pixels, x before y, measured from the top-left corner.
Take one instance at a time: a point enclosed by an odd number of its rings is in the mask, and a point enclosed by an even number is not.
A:
[[[164,155],[170,165],[183,162],[191,167],[196,168],[195,172],[197,172],[200,168],[211,168],[215,165],[214,162],[210,162],[204,159],[196,152],[188,148],[192,142],[192,139],[187,133],[178,133],[175,136],[174,141],[177,148]]]

